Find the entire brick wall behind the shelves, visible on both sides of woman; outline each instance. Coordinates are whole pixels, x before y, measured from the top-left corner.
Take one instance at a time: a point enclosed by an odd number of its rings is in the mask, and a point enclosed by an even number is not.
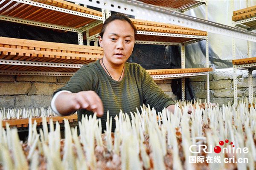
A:
[[[247,71],[238,71],[238,96],[248,96]],[[0,75],[0,108],[35,108],[49,106],[52,93],[70,77]],[[196,98],[206,99],[206,76],[191,78]],[[157,80],[157,85],[174,100],[172,80]],[[256,96],[256,71],[253,71],[253,93]],[[219,105],[233,103],[233,71],[210,74],[210,101]]]

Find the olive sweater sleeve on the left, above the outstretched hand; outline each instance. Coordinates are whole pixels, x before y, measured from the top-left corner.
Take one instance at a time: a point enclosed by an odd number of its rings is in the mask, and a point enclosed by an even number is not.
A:
[[[67,84],[59,88],[53,93],[53,96],[58,91],[70,91],[78,93],[79,91],[95,90],[98,77],[96,76],[95,69],[90,65],[83,65],[74,75],[70,78]]]

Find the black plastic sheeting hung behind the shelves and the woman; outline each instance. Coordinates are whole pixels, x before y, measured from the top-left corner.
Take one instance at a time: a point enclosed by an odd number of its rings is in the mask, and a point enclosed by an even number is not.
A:
[[[0,20],[0,36],[78,44],[77,33],[52,30],[36,26],[27,26]],[[84,41],[86,45],[86,41]],[[134,51],[128,62],[139,63],[145,69],[181,68],[181,54],[179,46],[135,44]],[[181,79],[172,80],[172,91],[181,99]],[[194,99],[189,79],[186,79],[186,99]]]

